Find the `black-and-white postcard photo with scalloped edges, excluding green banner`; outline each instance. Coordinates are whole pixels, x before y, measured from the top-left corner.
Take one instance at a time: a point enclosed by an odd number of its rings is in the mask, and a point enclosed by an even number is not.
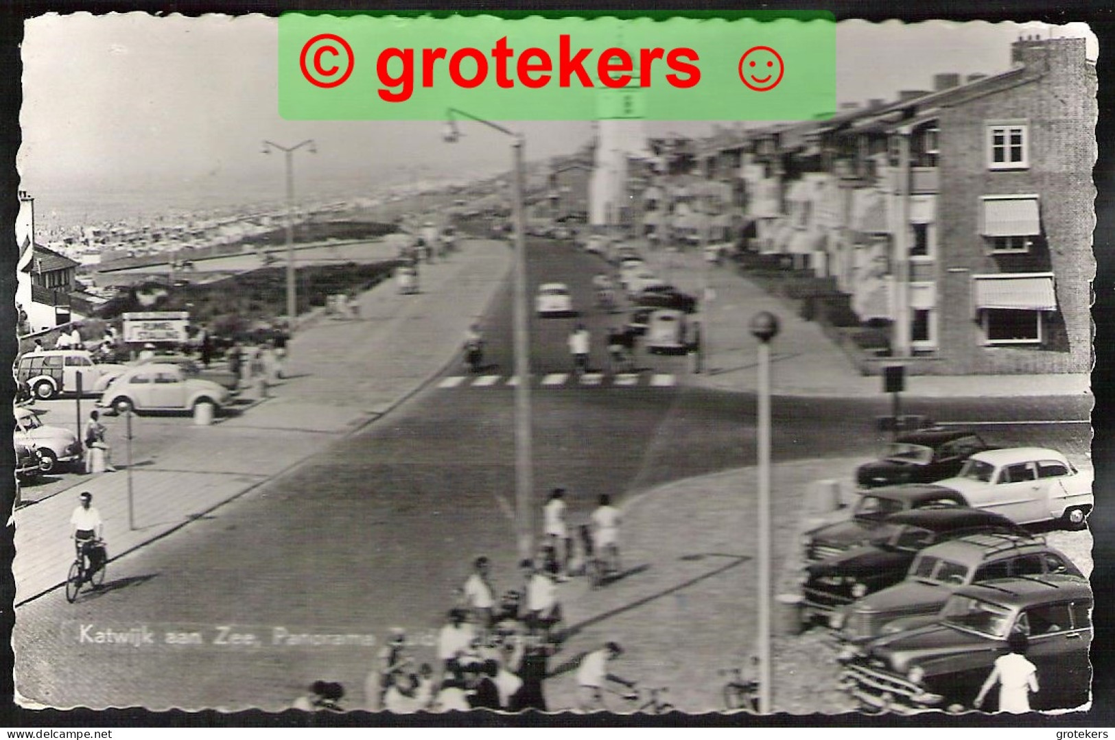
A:
[[[291,120],[278,26],[23,22],[20,708],[1089,708],[1087,23],[789,121]]]

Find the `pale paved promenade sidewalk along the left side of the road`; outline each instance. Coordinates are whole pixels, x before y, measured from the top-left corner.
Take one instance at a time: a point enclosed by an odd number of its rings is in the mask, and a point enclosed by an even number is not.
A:
[[[14,514],[16,605],[65,583],[78,491],[94,495],[110,557],[204,517],[417,392],[456,358],[511,261],[505,243],[468,240],[449,261],[421,265],[416,295],[398,294],[394,281],[380,283],[360,296],[359,320],[321,321],[298,333],[287,379],[243,413],[207,427],[184,423],[180,440],[156,459],[78,479],[21,507]]]

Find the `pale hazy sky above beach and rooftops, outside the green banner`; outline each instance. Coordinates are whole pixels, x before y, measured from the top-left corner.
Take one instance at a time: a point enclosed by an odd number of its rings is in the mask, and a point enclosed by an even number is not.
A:
[[[277,110],[277,23],[266,17],[152,18],[142,13],[43,16],[28,21],[22,48],[22,187],[38,196],[78,189],[173,194],[212,189],[282,196],[280,156],[264,138],[313,138],[297,155],[300,188],[358,186],[507,166],[506,142],[467,129],[443,144],[434,121],[289,121]],[[1040,28],[1040,31],[1036,29]],[[983,22],[845,22],[837,27],[837,98],[893,98],[924,89],[935,72],[1009,68],[1024,29]],[[1083,36],[1083,25],[1056,36]],[[1092,37],[1089,52],[1096,55]],[[590,124],[526,121],[531,158],[574,149]],[[648,123],[651,134],[704,133],[708,124]]]

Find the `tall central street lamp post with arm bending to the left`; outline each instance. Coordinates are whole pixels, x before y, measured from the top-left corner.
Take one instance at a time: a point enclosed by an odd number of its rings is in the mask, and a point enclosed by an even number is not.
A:
[[[453,143],[460,138],[456,117],[460,116],[483,124],[488,128],[512,137],[511,145],[512,182],[514,187],[515,208],[515,286],[514,286],[514,354],[515,354],[515,539],[518,546],[520,559],[534,555],[534,471],[532,464],[532,429],[531,429],[531,361],[530,335],[527,333],[526,304],[526,213],[523,192],[525,188],[523,173],[523,148],[525,140],[517,134],[498,124],[479,118],[457,108],[449,108],[445,124],[446,142]]]

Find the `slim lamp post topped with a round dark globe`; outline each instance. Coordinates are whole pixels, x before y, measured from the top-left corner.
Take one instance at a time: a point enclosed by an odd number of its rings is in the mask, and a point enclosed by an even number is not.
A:
[[[770,340],[778,334],[778,318],[760,311],[752,319],[752,334],[759,340],[758,393],[758,659],[759,714],[770,713]]]

